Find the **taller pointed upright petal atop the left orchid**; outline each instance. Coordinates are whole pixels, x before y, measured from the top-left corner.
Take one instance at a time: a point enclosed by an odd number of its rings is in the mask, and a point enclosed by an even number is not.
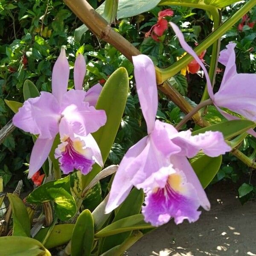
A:
[[[52,69],[52,94],[61,102],[62,96],[67,91],[69,78],[69,64],[66,57],[65,49],[61,48],[61,53],[58,56]]]

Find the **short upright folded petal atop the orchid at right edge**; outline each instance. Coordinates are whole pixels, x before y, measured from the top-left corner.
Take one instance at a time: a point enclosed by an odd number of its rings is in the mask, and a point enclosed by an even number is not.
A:
[[[233,76],[235,76],[237,74],[236,72],[236,52],[235,52],[235,47],[236,44],[234,43],[229,43],[226,48],[220,52],[220,56],[218,58],[218,61],[223,64],[224,66],[226,66],[225,68],[225,72],[223,75],[223,79],[221,82],[221,87],[224,86],[224,84]],[[225,86],[226,87],[226,86]]]

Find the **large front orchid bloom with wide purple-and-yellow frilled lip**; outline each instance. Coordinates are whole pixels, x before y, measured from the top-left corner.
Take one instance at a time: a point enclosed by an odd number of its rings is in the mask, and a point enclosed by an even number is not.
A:
[[[207,131],[196,136],[191,131],[178,132],[172,125],[155,120],[157,84],[154,64],[146,55],[133,57],[134,76],[148,135],[132,146],[123,157],[113,179],[105,212],[118,207],[131,188],[146,193],[142,208],[145,221],[154,226],[175,219],[198,220],[201,205],[210,204],[187,157],[202,150],[210,157],[230,151],[221,132]],[[206,170],[207,172],[207,170]]]

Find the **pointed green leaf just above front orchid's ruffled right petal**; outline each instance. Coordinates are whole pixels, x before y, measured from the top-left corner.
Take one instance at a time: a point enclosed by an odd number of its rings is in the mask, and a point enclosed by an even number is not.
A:
[[[245,131],[248,131],[250,128],[254,128],[255,126],[256,123],[250,120],[231,120],[193,131],[192,135],[197,135],[206,131],[221,131],[224,139],[229,140]]]

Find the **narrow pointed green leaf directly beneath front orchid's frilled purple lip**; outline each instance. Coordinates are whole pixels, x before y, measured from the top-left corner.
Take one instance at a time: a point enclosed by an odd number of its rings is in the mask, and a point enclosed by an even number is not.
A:
[[[147,228],[153,227],[149,223],[146,223],[144,221],[144,216],[142,214],[136,214],[111,223],[110,225],[96,233],[95,237],[100,238],[104,236],[111,236],[123,233],[130,230],[139,230]]]

